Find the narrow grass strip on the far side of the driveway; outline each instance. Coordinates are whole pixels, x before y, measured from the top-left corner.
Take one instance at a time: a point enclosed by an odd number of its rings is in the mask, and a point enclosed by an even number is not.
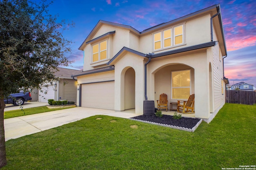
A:
[[[40,106],[40,107],[32,107],[32,108],[23,109],[23,111],[21,109],[4,111],[4,119],[18,117],[18,116],[24,116],[24,115],[32,115],[32,114],[36,114],[36,113],[44,113],[47,111],[68,109],[68,108],[71,108],[71,107],[49,109],[46,106]]]

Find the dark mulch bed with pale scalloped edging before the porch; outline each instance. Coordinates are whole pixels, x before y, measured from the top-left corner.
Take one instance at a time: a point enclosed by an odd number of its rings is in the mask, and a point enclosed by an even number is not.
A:
[[[137,119],[142,121],[150,121],[154,123],[162,123],[165,125],[173,125],[178,127],[185,127],[192,129],[196,123],[200,121],[197,118],[182,117],[181,119],[172,119],[171,115],[163,115],[163,117],[156,117],[155,115],[139,115],[132,117],[131,119]]]

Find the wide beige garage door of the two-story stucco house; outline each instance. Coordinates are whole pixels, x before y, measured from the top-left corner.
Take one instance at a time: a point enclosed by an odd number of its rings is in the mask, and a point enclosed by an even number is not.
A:
[[[82,84],[82,107],[114,110],[114,82]]]

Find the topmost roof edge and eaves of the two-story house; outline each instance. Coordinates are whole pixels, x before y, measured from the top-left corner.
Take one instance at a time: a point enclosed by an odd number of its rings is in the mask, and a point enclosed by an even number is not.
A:
[[[188,14],[186,16],[183,16],[183,17],[180,17],[178,19],[175,19],[175,20],[172,20],[172,21],[168,21],[166,23],[160,23],[158,25],[155,25],[153,27],[150,27],[148,29],[144,29],[143,31],[138,31],[137,29],[134,29],[132,26],[130,25],[123,25],[123,24],[120,24],[120,23],[113,23],[113,22],[109,22],[109,21],[103,21],[103,20],[100,20],[98,21],[98,23],[96,24],[96,26],[92,29],[92,31],[89,33],[89,35],[86,37],[86,39],[84,40],[84,42],[82,43],[82,45],[80,45],[80,47],[78,48],[79,50],[83,50],[84,47],[86,46],[86,42],[88,41],[91,41],[92,37],[95,35],[95,33],[98,31],[98,29],[103,25],[103,24],[106,24],[106,25],[111,25],[111,26],[114,26],[114,27],[122,27],[124,29],[128,29],[130,31],[132,31],[134,34],[136,35],[143,35],[143,34],[147,34],[147,33],[150,33],[152,31],[155,31],[156,29],[160,29],[162,27],[165,27],[167,25],[170,25],[170,24],[173,24],[173,23],[176,23],[176,22],[180,22],[182,20],[188,20],[190,18],[193,18],[197,15],[200,15],[200,14],[204,14],[204,13],[209,13],[211,12],[212,13],[212,16],[215,14],[214,12],[219,12],[217,13],[218,14],[218,21],[219,21],[219,24],[220,24],[220,30],[221,30],[221,33],[222,33],[222,40],[223,40],[223,45],[224,45],[224,51],[225,51],[225,55],[227,55],[227,49],[226,49],[226,41],[225,41],[225,36],[224,36],[224,28],[223,28],[223,23],[222,23],[222,15],[221,15],[221,12],[220,12],[220,4],[216,4],[216,5],[213,5],[213,6],[210,6],[208,8],[204,8],[202,10],[199,10],[199,11],[196,11],[196,12],[193,12],[191,14]],[[104,34],[105,35],[105,34]],[[101,35],[103,36],[103,35]],[[100,37],[101,37],[100,36]],[[96,39],[99,38],[99,37],[96,37]]]

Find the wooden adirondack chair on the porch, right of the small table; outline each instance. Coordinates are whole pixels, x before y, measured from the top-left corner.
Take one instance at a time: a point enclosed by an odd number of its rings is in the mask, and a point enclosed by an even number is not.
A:
[[[181,101],[181,100],[178,100],[178,104],[177,104],[177,111],[178,112],[181,112],[182,113],[185,113],[185,112],[188,112],[188,109],[191,109],[191,112],[192,113],[195,113],[194,112],[194,103],[195,103],[195,94],[191,94],[188,98],[188,101]]]

